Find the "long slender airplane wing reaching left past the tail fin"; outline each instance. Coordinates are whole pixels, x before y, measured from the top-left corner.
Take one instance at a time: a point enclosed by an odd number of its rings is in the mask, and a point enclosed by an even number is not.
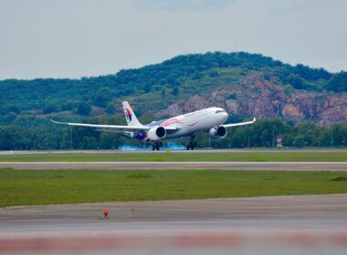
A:
[[[117,126],[117,125],[97,125],[97,124],[84,124],[84,123],[70,123],[70,122],[59,122],[53,119],[50,119],[53,123],[68,125],[68,126],[77,126],[77,127],[86,127],[86,128],[97,128],[99,131],[108,131],[108,132],[133,132],[138,130],[148,130],[150,127],[146,126]]]

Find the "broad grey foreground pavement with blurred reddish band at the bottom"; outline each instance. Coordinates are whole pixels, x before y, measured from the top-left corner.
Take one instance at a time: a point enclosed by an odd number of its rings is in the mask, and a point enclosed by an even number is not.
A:
[[[104,219],[103,209],[110,219]],[[347,195],[0,209],[0,253],[345,254]]]

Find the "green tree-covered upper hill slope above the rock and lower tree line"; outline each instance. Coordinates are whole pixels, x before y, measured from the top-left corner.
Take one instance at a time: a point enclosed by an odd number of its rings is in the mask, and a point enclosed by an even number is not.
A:
[[[136,98],[136,104],[141,105],[141,115],[147,109],[163,108],[177,99],[205,95],[216,87],[239,86],[243,77],[257,73],[275,76],[280,85],[295,89],[334,89],[327,87],[332,74],[323,68],[290,66],[268,56],[244,52],[216,52],[176,56],[161,64],[121,70],[108,76],[3,80],[0,81],[0,114],[77,112],[80,102],[106,108],[109,103],[119,103],[124,98],[135,101]],[[148,104],[149,99],[151,104]]]

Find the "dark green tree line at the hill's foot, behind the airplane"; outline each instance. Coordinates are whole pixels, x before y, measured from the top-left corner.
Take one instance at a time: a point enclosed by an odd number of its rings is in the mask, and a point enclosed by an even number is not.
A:
[[[142,116],[140,120],[145,121],[148,117],[151,116]],[[88,120],[95,124],[125,125],[123,117],[103,116]],[[209,140],[206,133],[198,133],[196,141],[198,148],[272,148],[278,146],[279,136],[284,148],[342,148],[347,146],[347,124],[321,127],[308,121],[295,126],[293,122],[279,118],[262,119],[250,126],[230,128],[226,138],[219,140]],[[187,138],[174,140],[174,144],[184,148],[187,141]],[[0,127],[0,149],[118,149],[124,145],[151,148],[149,144],[121,134],[95,131],[92,128],[67,128],[39,122],[31,128],[20,128],[19,123]]]

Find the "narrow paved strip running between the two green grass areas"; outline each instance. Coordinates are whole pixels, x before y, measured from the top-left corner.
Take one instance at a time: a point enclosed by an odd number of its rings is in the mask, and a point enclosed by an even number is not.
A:
[[[347,162],[0,162],[0,168],[346,171]]]

